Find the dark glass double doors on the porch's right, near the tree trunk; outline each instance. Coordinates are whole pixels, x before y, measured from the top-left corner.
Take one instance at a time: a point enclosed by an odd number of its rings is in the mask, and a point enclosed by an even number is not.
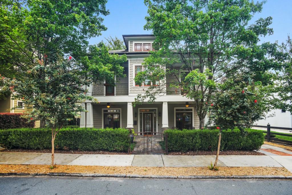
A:
[[[192,129],[192,112],[175,112],[175,123],[177,129]]]

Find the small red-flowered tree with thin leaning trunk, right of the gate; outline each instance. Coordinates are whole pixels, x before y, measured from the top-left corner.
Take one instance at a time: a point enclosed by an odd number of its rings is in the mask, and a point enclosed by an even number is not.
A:
[[[226,79],[214,91],[212,100],[206,102],[210,111],[208,124],[219,129],[217,155],[214,167],[217,166],[222,129],[240,130],[251,128],[256,121],[265,119],[270,108],[270,94],[273,85],[255,82],[251,75],[238,74]]]

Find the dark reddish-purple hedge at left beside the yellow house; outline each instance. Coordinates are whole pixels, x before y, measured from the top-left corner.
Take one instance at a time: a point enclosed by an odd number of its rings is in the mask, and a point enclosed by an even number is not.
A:
[[[0,129],[34,127],[34,121],[27,122],[22,113],[0,113]]]

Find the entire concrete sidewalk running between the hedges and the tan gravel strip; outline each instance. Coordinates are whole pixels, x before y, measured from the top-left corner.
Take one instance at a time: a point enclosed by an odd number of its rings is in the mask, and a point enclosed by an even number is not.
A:
[[[264,144],[260,152],[267,156],[222,155],[221,167],[285,167],[292,172],[292,152],[276,146]],[[283,153],[291,156],[283,156]],[[105,155],[105,154],[55,154],[58,165],[99,165],[138,167],[207,167],[214,163],[215,155],[175,156],[175,155]],[[49,165],[51,153],[0,152],[0,164]]]

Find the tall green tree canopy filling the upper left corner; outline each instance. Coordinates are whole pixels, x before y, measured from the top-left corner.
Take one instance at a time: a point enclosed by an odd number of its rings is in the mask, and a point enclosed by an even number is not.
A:
[[[106,30],[107,0],[5,0],[0,2],[0,72],[18,77],[38,61],[44,66],[59,56],[86,56],[88,39]],[[87,68],[87,67],[85,67]],[[23,77],[25,76],[22,75]],[[43,71],[34,75],[45,80]],[[44,121],[41,126],[44,127]]]

